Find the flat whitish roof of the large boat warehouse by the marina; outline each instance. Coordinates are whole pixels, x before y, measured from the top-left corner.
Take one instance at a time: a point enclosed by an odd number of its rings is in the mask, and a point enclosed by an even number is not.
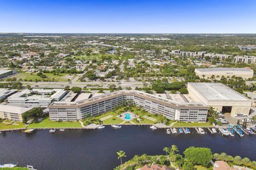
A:
[[[250,101],[250,99],[222,83],[188,83],[188,86],[193,87],[197,93],[201,94],[208,101]]]

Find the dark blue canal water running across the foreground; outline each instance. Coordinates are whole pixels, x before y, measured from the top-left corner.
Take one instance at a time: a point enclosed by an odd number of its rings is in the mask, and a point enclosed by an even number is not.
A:
[[[166,134],[149,126],[110,126],[101,130],[66,130],[50,133],[5,132],[0,134],[0,164],[32,165],[43,169],[113,169],[119,165],[116,152],[134,155],[164,154],[163,148],[177,145],[182,153],[190,146],[209,147],[212,152],[256,159],[256,135],[222,137],[218,134]]]

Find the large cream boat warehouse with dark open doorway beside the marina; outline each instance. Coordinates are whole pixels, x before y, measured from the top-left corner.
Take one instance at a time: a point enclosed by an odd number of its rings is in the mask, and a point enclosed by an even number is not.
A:
[[[252,101],[222,83],[188,83],[189,95],[197,102],[223,113],[249,115]]]

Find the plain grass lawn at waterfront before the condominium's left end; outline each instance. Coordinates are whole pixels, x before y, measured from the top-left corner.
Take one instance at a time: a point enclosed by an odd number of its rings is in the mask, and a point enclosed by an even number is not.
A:
[[[79,122],[52,122],[47,117],[42,122],[29,124],[27,128],[82,128],[82,126]]]

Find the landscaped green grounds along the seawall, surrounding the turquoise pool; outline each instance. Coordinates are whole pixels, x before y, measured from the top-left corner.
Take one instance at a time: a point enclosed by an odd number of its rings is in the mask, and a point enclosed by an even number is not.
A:
[[[38,108],[35,108],[35,109],[38,109]],[[132,113],[138,117],[133,118],[132,120],[123,120],[120,116],[125,112]],[[35,113],[34,109],[33,109],[33,113]],[[76,122],[61,122],[61,121],[53,122],[49,120],[49,116],[45,116],[44,118],[42,118],[42,114],[40,113],[37,113],[37,114],[28,113],[26,115],[28,115],[27,116],[28,118],[32,118],[31,116],[33,115],[36,115],[36,117],[34,117],[34,121],[28,125],[22,124],[21,122],[3,120],[3,122],[0,122],[0,131],[12,130],[12,129],[23,129],[23,128],[27,128],[27,129],[81,128],[82,129],[84,128],[84,126],[88,126],[90,124],[154,125],[157,123],[162,123],[169,127],[210,127],[212,126],[207,122],[206,123],[186,123],[186,122],[178,122],[178,121],[170,120],[162,116],[161,114],[151,114],[135,105],[114,107],[112,111],[109,111],[107,113],[97,115],[94,117],[91,117],[88,115],[87,117],[84,118],[84,120],[76,121]],[[28,118],[26,118],[26,120],[28,120]]]

